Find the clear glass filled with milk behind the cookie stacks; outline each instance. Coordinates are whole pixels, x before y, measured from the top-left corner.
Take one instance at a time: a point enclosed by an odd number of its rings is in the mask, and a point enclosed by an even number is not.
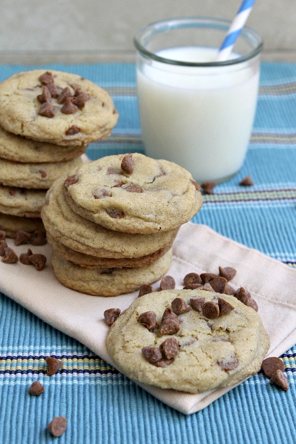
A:
[[[217,62],[229,25],[172,18],[142,28],[134,40],[145,152],[178,163],[199,183],[239,171],[254,122],[262,40],[244,27],[235,52]]]

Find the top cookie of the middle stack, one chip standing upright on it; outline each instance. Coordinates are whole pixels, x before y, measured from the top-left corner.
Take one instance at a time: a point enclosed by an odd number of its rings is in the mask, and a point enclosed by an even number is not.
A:
[[[73,211],[111,230],[150,234],[188,222],[202,197],[190,173],[143,154],[103,157],[65,181]]]

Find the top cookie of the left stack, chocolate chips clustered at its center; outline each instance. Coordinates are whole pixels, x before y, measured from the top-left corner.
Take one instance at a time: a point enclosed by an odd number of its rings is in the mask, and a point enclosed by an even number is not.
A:
[[[118,113],[90,80],[33,70],[0,83],[0,125],[8,132],[57,145],[88,145],[111,134]]]

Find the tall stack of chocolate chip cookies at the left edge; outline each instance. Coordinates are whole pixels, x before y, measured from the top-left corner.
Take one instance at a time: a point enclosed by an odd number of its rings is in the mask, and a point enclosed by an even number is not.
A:
[[[8,237],[44,230],[47,189],[117,119],[109,94],[76,74],[34,70],[0,83],[0,225]]]

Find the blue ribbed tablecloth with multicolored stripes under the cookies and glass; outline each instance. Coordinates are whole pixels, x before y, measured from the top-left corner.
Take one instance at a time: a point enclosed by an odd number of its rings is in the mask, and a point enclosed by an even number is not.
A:
[[[134,64],[1,66],[0,81],[34,68],[80,74],[111,94],[120,118],[108,139],[89,146],[92,160],[144,152]],[[254,186],[239,186],[247,175]],[[244,165],[204,196],[193,222],[296,268],[296,64],[262,63]],[[186,416],[3,294],[0,314],[0,443],[296,443],[296,346],[282,356],[287,392],[259,372]],[[44,361],[48,355],[64,364],[51,377]],[[34,380],[44,385],[42,396],[29,396]],[[46,426],[58,415],[68,418],[68,427],[57,439]]]

